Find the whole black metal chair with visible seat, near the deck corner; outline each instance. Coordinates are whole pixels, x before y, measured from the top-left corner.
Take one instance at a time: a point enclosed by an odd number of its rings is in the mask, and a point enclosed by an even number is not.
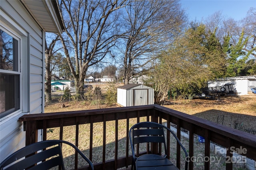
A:
[[[129,131],[129,139],[130,144],[132,148],[132,169],[133,166],[135,166],[134,169],[146,169],[150,170],[150,167],[152,169],[178,169],[172,162],[166,158],[167,155],[167,149],[166,149],[166,139],[165,139],[165,133],[164,129],[166,131],[169,131],[172,133],[176,141],[178,141],[178,144],[182,148],[182,150],[185,152],[185,156],[188,157],[188,153],[178,137],[174,134],[173,131],[171,131],[168,127],[155,123],[155,122],[141,122],[133,125]],[[161,149],[162,144],[164,144],[164,152],[165,155],[158,155],[158,154],[144,154],[140,157],[137,155],[135,156],[135,145],[139,143],[151,143],[153,145],[154,143],[157,144],[158,150]],[[139,148],[137,148],[139,149]],[[159,152],[159,151],[158,151]],[[137,150],[138,153],[138,150]],[[185,161],[185,170],[188,169],[188,161]],[[140,167],[140,168],[139,168]]]

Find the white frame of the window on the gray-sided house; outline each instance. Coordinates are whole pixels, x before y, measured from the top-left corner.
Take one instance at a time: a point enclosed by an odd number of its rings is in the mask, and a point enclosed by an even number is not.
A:
[[[2,13],[2,11],[1,11]],[[2,17],[3,13],[1,14]],[[16,115],[22,113],[22,100],[23,100],[23,96],[22,96],[22,90],[24,88],[24,86],[22,86],[24,78],[22,76],[22,65],[24,64],[22,62],[22,43],[24,42],[24,37],[27,38],[27,34],[23,34],[26,33],[26,31],[24,31],[24,29],[22,29],[20,26],[16,25],[16,24],[12,24],[12,23],[4,23],[1,21],[0,23],[0,29],[2,29],[2,31],[8,33],[10,36],[12,36],[14,39],[16,39],[18,41],[18,71],[10,71],[10,70],[0,70],[1,73],[8,73],[8,74],[18,74],[20,76],[20,109],[9,113],[8,115],[5,115],[4,117],[2,117],[0,119],[0,125],[6,121],[8,121],[9,119],[11,119],[12,117],[15,117]],[[19,33],[18,33],[19,32]],[[26,45],[25,45],[26,46]]]

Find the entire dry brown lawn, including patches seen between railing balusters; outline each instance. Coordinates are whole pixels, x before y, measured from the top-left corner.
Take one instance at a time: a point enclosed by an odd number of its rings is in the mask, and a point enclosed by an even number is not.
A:
[[[240,127],[245,129],[256,130],[256,94],[250,94],[246,96],[224,96],[219,100],[170,100],[172,104],[165,105],[165,107],[182,111],[184,113],[201,117],[213,122],[217,122],[228,127],[234,128],[234,123],[237,122]],[[66,107],[61,107],[62,104]],[[45,107],[45,113],[60,112],[60,111],[75,111],[75,110],[86,110],[86,109],[99,109],[110,107],[107,105],[91,105],[90,102],[55,102],[53,104],[47,104]],[[118,107],[118,106],[111,106]],[[144,118],[141,119],[144,121]],[[136,119],[130,120],[130,127],[136,123]],[[106,134],[106,160],[114,158],[114,141],[115,141],[115,129],[113,127],[114,121],[107,122],[107,134]],[[93,158],[92,162],[98,162],[102,160],[102,129],[103,123],[94,123],[94,134],[93,134]],[[75,142],[75,126],[64,127],[63,139],[71,143]],[[118,157],[125,156],[125,140],[126,135],[126,121],[122,120],[118,122]],[[53,133],[47,133],[47,139],[58,139],[59,128],[54,128]],[[90,138],[90,125],[79,125],[79,143],[78,148],[81,149],[86,156],[89,155],[89,138]],[[188,145],[188,139],[183,138],[182,143]],[[195,138],[195,149],[201,150],[204,155],[204,145],[198,143]],[[74,152],[67,149],[68,152],[64,153],[66,157],[65,162],[70,166],[74,161]],[[175,149],[174,149],[175,150]],[[200,152],[198,152],[200,153]],[[197,154],[198,154],[197,153]],[[131,153],[129,153],[131,154]],[[175,153],[174,153],[175,154]],[[220,157],[220,156],[218,156]],[[175,160],[173,160],[175,162]],[[80,162],[80,166],[84,163]],[[204,169],[202,164],[195,164],[194,169]],[[220,170],[225,169],[225,158],[218,165],[212,164],[211,169]],[[233,169],[243,170],[244,168],[240,165],[235,166]]]

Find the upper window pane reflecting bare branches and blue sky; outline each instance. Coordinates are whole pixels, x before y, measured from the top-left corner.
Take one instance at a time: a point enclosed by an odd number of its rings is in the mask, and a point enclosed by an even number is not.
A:
[[[18,71],[18,41],[1,29],[0,69]]]

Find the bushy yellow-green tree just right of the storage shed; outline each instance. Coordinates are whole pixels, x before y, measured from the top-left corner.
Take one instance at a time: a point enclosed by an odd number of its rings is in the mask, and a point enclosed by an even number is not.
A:
[[[193,23],[158,56],[148,82],[155,89],[156,104],[165,100],[168,91],[172,96],[187,98],[204,87],[207,80],[223,75],[225,54],[215,34],[207,33],[204,24]]]

